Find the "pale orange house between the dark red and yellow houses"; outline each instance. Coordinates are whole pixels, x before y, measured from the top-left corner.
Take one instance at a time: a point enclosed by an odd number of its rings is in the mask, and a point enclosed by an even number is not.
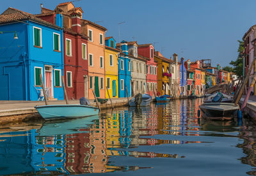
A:
[[[88,98],[94,99],[93,91],[99,98],[105,98],[105,33],[107,29],[89,20],[81,19],[82,33],[88,39]]]

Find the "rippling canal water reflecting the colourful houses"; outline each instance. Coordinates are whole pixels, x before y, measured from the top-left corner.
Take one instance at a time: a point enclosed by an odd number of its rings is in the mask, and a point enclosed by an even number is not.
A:
[[[1,126],[0,175],[256,175],[255,124],[198,118],[202,101]]]

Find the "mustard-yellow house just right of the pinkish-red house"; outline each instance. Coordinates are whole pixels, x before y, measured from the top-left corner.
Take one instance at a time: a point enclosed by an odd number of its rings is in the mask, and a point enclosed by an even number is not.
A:
[[[163,57],[160,52],[155,52],[154,59],[157,61],[157,92],[160,95],[170,95],[170,59]]]

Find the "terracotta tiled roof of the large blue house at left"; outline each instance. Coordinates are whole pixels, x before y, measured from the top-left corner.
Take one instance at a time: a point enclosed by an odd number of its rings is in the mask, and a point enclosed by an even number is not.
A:
[[[61,29],[61,27],[51,24],[50,22],[47,22],[40,18],[37,18],[35,15],[32,15],[31,13],[17,10],[15,8],[8,8],[0,15],[0,24],[6,24],[10,22],[20,22],[22,20],[31,20],[33,22],[44,24],[45,26],[51,26],[51,27]]]

